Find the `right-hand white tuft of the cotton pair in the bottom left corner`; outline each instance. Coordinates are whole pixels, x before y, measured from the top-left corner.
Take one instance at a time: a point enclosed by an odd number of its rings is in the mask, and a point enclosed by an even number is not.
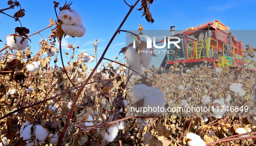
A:
[[[41,125],[36,125],[34,134],[36,136],[36,140],[39,141],[39,144],[42,144],[48,136],[49,132]]]

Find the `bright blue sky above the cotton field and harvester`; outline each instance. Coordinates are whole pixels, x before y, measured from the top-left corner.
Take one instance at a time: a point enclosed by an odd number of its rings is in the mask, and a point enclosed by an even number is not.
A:
[[[39,31],[49,25],[49,19],[56,19],[54,12],[54,4],[52,0],[18,0],[25,9],[26,15],[20,18],[22,25],[30,30],[30,34]],[[56,0],[64,5],[64,0]],[[136,0],[126,0],[127,3],[133,4]],[[2,0],[0,9],[6,8],[7,0]],[[140,2],[136,6],[139,9]],[[155,0],[150,5],[150,12],[155,20],[153,24],[149,24],[145,17],[141,17],[142,12],[136,9],[130,14],[124,23],[123,30],[138,29],[141,23],[144,29],[148,30],[169,30],[174,25],[176,30],[187,29],[193,26],[210,22],[214,19],[219,20],[230,29],[254,30],[256,27],[255,16],[255,0],[215,0],[215,1],[195,1],[195,0]],[[113,36],[120,22],[129,11],[129,7],[123,0],[73,0],[71,9],[75,9],[80,13],[84,27],[87,29],[85,35],[81,38],[66,38],[63,45],[78,44],[76,54],[87,51],[93,54],[93,43],[98,39],[98,56],[102,54],[107,43]],[[19,8],[4,11],[13,16]],[[4,42],[5,37],[14,33],[14,28],[20,26],[19,22],[14,22],[13,18],[0,13],[0,39]],[[51,33],[50,29],[43,31],[41,34],[44,38],[48,38]],[[40,35],[30,37],[33,54],[39,50],[39,42],[42,40]],[[4,43],[0,42],[0,48],[4,47]],[[244,43],[245,44],[245,43]],[[121,32],[110,45],[106,57],[114,59],[118,56],[120,48],[126,45],[126,34]],[[256,46],[254,46],[256,47]],[[67,48],[64,52],[71,54]],[[75,56],[76,57],[76,56]],[[52,59],[54,59],[52,57]],[[123,55],[119,57],[123,59]],[[66,58],[64,61],[67,62]],[[105,61],[107,62],[107,61]],[[60,65],[60,59],[58,60]],[[89,63],[89,67],[93,67],[95,63]]]

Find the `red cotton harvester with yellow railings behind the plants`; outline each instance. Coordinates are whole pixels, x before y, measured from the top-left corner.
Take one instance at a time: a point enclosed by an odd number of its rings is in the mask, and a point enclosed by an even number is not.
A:
[[[171,44],[170,49],[174,54],[166,54],[160,67],[169,69],[175,62],[186,63],[190,68],[203,63],[205,60],[210,67],[239,67],[243,59],[243,43],[230,32],[230,28],[218,20],[191,27],[185,31],[174,34],[174,26],[171,26],[172,36],[181,38],[178,44],[180,49]],[[158,43],[164,42],[159,41]],[[167,60],[167,61],[166,61]],[[245,63],[255,61],[255,57],[245,58]],[[256,71],[252,63],[248,69]]]

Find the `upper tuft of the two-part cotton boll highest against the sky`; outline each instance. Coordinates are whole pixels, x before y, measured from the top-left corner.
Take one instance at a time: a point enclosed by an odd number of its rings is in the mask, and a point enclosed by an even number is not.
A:
[[[64,24],[74,24],[76,22],[76,16],[68,9],[60,11],[58,19],[62,20]]]

